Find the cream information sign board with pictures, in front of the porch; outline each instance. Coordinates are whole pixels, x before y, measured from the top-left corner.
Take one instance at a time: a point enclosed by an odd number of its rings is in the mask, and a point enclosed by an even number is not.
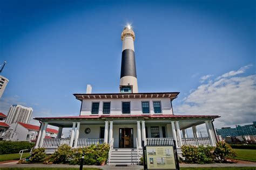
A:
[[[177,169],[173,146],[145,146],[147,169]]]

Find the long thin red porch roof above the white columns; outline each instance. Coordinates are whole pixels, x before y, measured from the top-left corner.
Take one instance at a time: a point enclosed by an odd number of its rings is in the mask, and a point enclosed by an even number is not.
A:
[[[144,118],[218,118],[217,115],[84,115],[84,116],[64,116],[64,117],[36,117],[43,119],[95,119],[95,118],[122,118],[122,117],[144,117]]]

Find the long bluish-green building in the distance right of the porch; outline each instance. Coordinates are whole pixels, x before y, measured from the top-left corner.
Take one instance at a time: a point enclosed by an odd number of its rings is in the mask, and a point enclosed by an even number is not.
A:
[[[236,137],[236,136],[246,136],[246,135],[256,135],[256,122],[250,125],[236,125],[235,128],[221,128],[217,129],[216,133],[223,138],[227,136]]]

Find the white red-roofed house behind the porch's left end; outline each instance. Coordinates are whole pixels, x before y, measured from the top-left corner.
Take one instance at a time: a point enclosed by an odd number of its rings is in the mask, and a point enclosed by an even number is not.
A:
[[[5,137],[11,141],[35,141],[40,127],[31,124],[16,122],[10,124],[10,129],[6,131]],[[57,137],[58,130],[46,129],[45,139]]]

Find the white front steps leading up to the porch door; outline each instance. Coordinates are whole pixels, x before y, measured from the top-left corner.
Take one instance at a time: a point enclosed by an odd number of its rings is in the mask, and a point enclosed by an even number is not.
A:
[[[139,160],[142,157],[139,149]],[[109,165],[138,165],[138,152],[136,148],[113,148],[110,154]]]

